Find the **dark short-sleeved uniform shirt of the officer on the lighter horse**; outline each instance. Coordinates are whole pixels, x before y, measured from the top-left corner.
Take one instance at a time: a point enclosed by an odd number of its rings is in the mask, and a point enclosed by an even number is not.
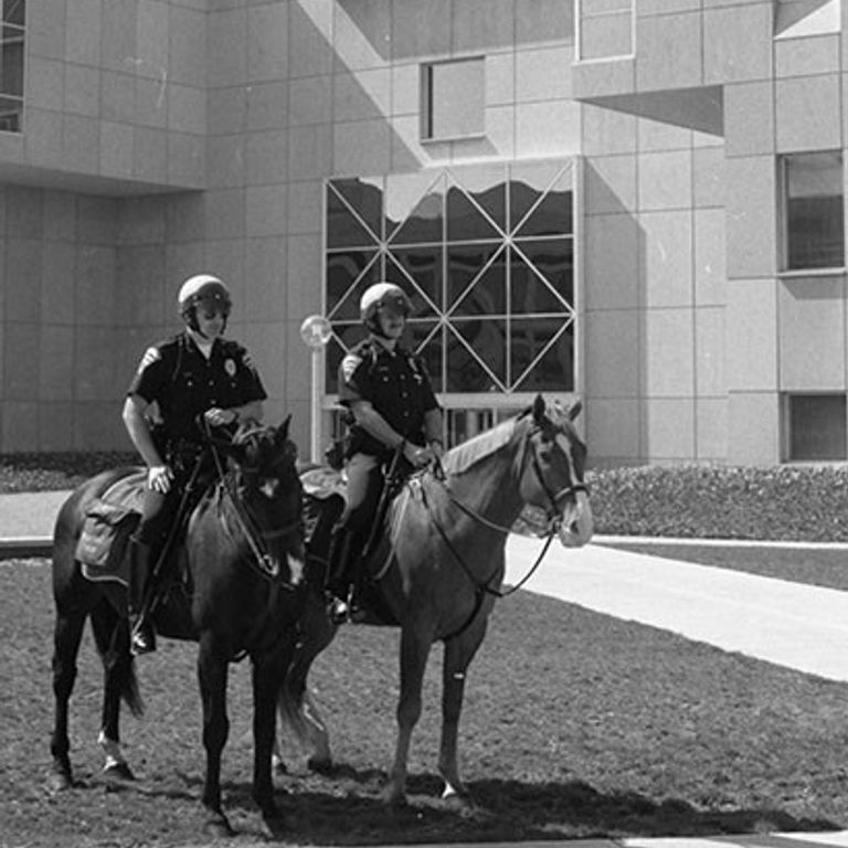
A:
[[[374,339],[357,344],[339,365],[339,402],[350,406],[354,401],[369,401],[393,430],[416,445],[425,441],[424,414],[439,407],[423,360],[400,346],[389,351]],[[354,422],[347,453],[385,457],[391,452]]]

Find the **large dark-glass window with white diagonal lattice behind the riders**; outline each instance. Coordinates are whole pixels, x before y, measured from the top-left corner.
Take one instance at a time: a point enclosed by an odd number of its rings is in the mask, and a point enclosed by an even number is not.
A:
[[[448,406],[574,391],[573,182],[571,161],[330,180],[328,393],[364,336],[359,298],[381,279],[410,295],[406,342]]]

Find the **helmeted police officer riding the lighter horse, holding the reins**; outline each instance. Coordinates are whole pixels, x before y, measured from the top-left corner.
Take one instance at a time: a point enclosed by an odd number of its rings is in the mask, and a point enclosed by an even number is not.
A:
[[[339,367],[339,402],[349,410],[348,504],[330,547],[330,616],[356,612],[359,560],[383,487],[383,468],[396,451],[406,469],[441,458],[442,409],[422,359],[401,344],[412,304],[393,283],[362,295],[360,315],[368,338]]]

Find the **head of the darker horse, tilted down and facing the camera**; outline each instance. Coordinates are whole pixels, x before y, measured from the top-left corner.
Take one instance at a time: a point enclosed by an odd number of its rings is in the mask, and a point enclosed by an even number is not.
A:
[[[272,566],[287,564],[300,582],[305,549],[300,518],[303,488],[297,447],[288,437],[289,415],[278,427],[242,424],[225,448],[233,491],[247,513],[253,542]]]

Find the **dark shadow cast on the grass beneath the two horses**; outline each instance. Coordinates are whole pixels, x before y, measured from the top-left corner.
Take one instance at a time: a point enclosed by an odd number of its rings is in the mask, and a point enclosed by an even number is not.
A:
[[[181,778],[197,785],[199,797],[201,781]],[[795,818],[777,808],[699,810],[681,799],[656,803],[638,793],[605,794],[577,781],[477,781],[468,786],[471,803],[459,804],[439,798],[439,777],[418,774],[409,780],[410,803],[389,807],[380,797],[385,781],[385,772],[346,765],[329,777],[278,777],[286,841],[378,846],[839,829],[834,822]],[[173,788],[160,791],[173,797]],[[248,783],[224,783],[223,795],[225,809],[255,812]]]

